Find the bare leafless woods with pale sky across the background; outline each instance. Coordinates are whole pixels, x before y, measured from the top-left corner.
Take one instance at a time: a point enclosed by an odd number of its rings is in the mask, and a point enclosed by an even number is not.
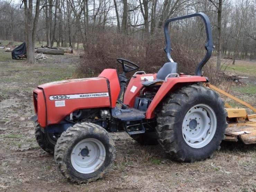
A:
[[[139,54],[153,42],[164,42],[166,19],[195,12],[206,13],[211,20],[218,61],[227,57],[235,64],[236,58],[256,59],[256,0],[0,0],[0,39],[33,39],[33,44],[36,40],[49,46],[56,42],[57,47],[82,47],[85,53],[100,48],[98,57],[111,45],[132,46]],[[188,49],[202,43],[203,22],[174,22],[171,34],[176,44]],[[118,44],[126,45],[116,47],[118,38]],[[162,44],[157,48],[164,48]]]

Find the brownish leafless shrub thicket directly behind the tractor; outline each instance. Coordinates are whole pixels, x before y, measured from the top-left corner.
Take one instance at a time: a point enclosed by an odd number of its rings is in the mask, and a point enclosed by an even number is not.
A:
[[[178,72],[194,75],[196,67],[205,55],[205,40],[177,30],[171,33],[171,43],[172,57],[178,63]],[[141,71],[157,73],[167,62],[164,47],[162,30],[150,38],[141,39],[136,35],[118,34],[111,29],[98,29],[88,39],[85,54],[81,56],[76,69],[76,76],[98,76],[105,68],[116,68],[121,73],[121,65],[116,61],[118,57],[138,64]],[[211,79],[216,79],[219,73],[215,71],[211,61],[204,66],[203,71],[204,75],[209,75]]]

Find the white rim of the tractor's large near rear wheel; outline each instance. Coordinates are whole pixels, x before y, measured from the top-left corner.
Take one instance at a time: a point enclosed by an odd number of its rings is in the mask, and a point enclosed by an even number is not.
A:
[[[217,118],[213,109],[206,104],[197,104],[185,115],[182,135],[193,148],[202,148],[212,140],[217,129]]]

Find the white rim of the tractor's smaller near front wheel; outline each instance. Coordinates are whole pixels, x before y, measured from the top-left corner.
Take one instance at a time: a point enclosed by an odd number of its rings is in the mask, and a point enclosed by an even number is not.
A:
[[[98,139],[87,138],[75,145],[71,154],[71,164],[74,169],[82,174],[97,171],[104,163],[106,149]]]

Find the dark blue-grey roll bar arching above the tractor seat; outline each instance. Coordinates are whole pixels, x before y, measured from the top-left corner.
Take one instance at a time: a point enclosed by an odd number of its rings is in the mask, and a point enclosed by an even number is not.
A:
[[[212,41],[211,23],[210,23],[210,20],[207,15],[200,12],[200,13],[194,13],[194,14],[186,15],[186,16],[182,16],[182,17],[176,17],[173,19],[167,19],[164,24],[164,35],[165,35],[165,43],[166,43],[164,51],[166,53],[168,62],[173,62],[173,59],[171,57],[171,52],[172,52],[171,39],[170,39],[169,31],[168,31],[169,23],[171,21],[177,21],[177,20],[182,20],[182,19],[191,18],[191,17],[201,17],[203,19],[204,25],[205,25],[205,31],[206,31],[206,35],[207,35],[207,43],[205,44],[205,49],[206,49],[207,53],[204,56],[204,58],[202,59],[202,61],[198,64],[198,66],[196,68],[196,73],[195,73],[195,75],[201,76],[202,68],[205,65],[205,63],[207,63],[207,61],[210,59],[210,57],[212,55],[213,48],[214,48],[213,41]]]

